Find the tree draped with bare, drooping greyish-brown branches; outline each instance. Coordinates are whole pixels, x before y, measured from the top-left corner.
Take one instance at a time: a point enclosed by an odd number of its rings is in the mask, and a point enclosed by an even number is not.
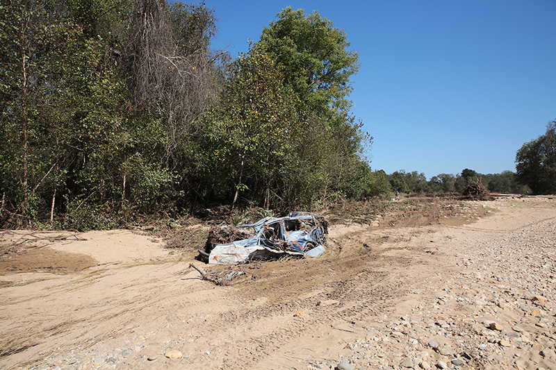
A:
[[[136,0],[125,72],[133,107],[163,120],[166,167],[181,165],[180,140],[215,98],[215,62],[209,51],[215,34],[211,8],[162,0]],[[183,143],[182,143],[183,144]]]

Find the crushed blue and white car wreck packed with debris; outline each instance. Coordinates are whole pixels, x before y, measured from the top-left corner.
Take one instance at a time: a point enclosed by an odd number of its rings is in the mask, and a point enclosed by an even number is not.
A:
[[[222,226],[209,232],[200,257],[209,264],[269,260],[286,255],[318,257],[325,252],[328,224],[324,217],[292,212],[254,224]]]

